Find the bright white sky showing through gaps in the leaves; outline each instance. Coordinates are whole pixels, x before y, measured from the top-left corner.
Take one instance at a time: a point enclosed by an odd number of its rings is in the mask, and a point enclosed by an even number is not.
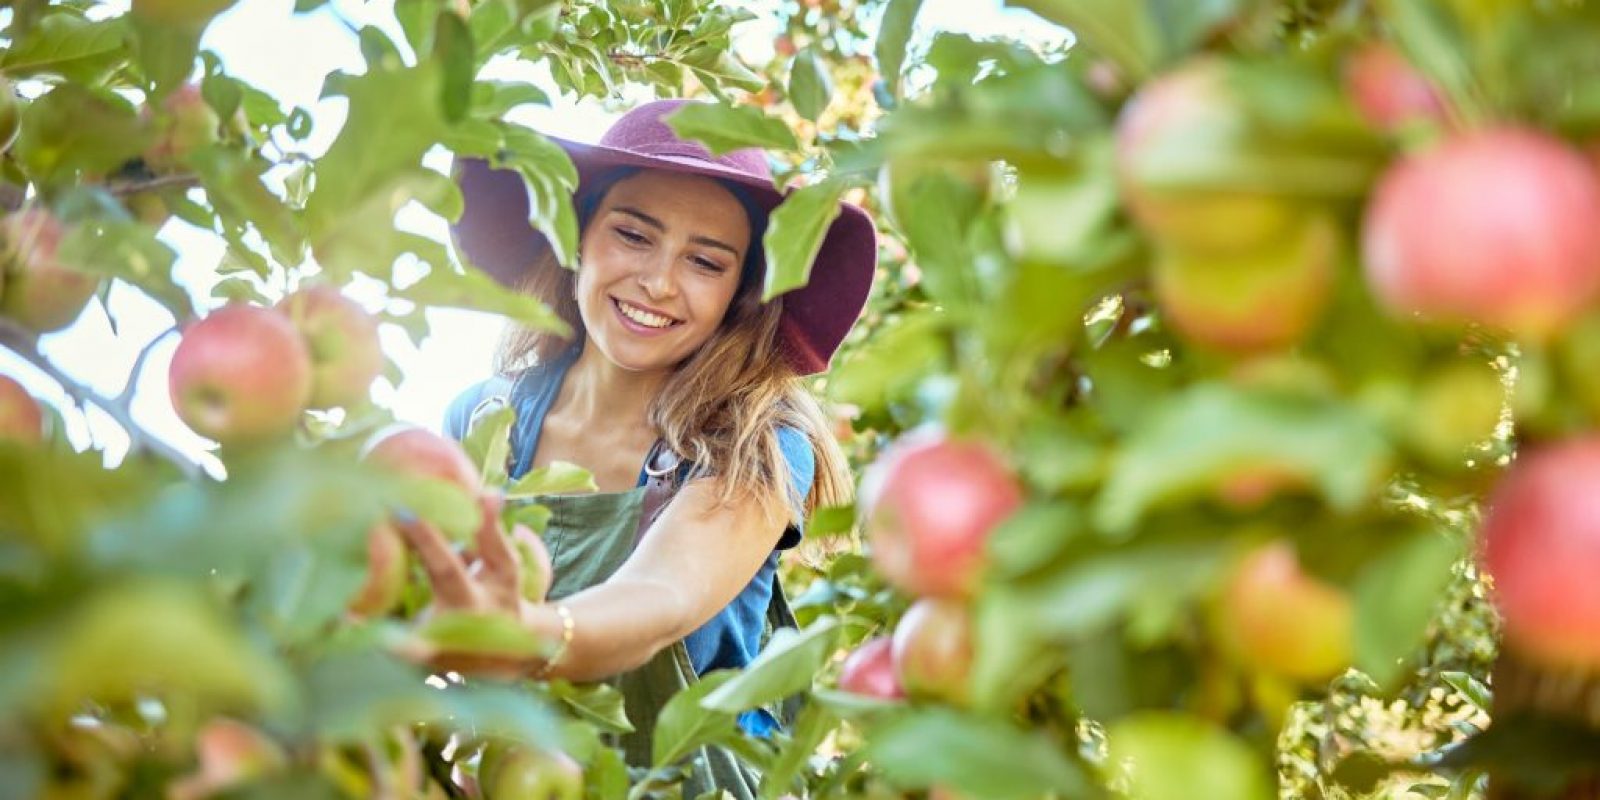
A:
[[[755,0],[747,5],[762,19],[747,22],[739,30],[738,46],[746,58],[762,61],[771,56],[771,40],[778,32],[773,11],[779,0]],[[917,40],[936,30],[1035,42],[1061,40],[1064,35],[1061,29],[1043,24],[1026,11],[998,6],[1000,0],[926,0],[917,22]],[[336,0],[320,11],[294,14],[293,0],[243,0],[213,22],[203,46],[222,58],[230,75],[274,94],[283,107],[309,109],[315,128],[304,149],[322,154],[344,120],[342,101],[317,99],[323,77],[338,69],[360,70],[363,64],[355,35],[341,18],[355,26],[382,26],[402,40],[392,8],[392,0]],[[552,98],[557,96],[547,74],[539,75],[522,62],[491,64],[486,77],[536,80],[550,88]],[[514,118],[546,133],[594,141],[613,115],[592,102],[574,106],[557,99],[554,109],[525,106]],[[448,163],[443,152],[429,158],[429,165],[442,171]],[[446,238],[446,224],[414,205],[402,210],[400,226],[438,240]],[[214,269],[222,258],[222,242],[184,222],[170,222],[162,230],[162,238],[179,253],[178,280],[203,307],[216,306],[210,301],[210,293],[216,283]],[[350,294],[370,306],[382,296],[376,286],[354,286]],[[115,334],[112,318],[118,325]],[[109,309],[91,302],[75,325],[42,338],[40,349],[72,378],[114,397],[123,389],[138,352],[171,323],[171,315],[154,301],[117,285],[110,291]],[[379,379],[373,397],[397,418],[437,429],[456,392],[490,374],[502,320],[435,309],[429,310],[429,323],[432,336],[421,349],[413,347],[398,328],[384,326],[384,352],[395,360],[405,378],[398,387]],[[168,398],[166,368],[176,346],[178,338],[168,336],[152,350],[133,395],[133,416],[155,437],[216,469],[216,461],[208,453],[211,443],[178,419]],[[62,410],[67,437],[75,448],[104,450],[107,464],[122,461],[128,437],[102,411],[93,405],[86,413],[74,408],[54,381],[5,349],[0,349],[0,374],[16,378],[35,397]]]

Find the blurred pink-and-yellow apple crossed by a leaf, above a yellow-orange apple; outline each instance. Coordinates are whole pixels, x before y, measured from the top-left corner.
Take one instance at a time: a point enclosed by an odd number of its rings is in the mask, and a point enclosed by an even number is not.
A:
[[[1117,179],[1134,219],[1190,251],[1237,253],[1285,235],[1299,208],[1248,189],[1162,186],[1208,147],[1248,147],[1250,118],[1227,66],[1202,58],[1144,85],[1117,118]]]

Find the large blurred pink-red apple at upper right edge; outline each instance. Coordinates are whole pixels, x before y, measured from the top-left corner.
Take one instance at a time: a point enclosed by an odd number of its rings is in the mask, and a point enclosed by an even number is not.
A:
[[[1541,131],[1461,134],[1397,163],[1366,206],[1373,293],[1397,314],[1542,339],[1600,293],[1600,179]]]

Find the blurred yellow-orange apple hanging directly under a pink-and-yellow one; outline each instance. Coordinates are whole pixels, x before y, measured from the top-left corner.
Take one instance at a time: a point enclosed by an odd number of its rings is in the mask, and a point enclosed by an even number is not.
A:
[[[1326,214],[1259,250],[1218,256],[1166,248],[1155,262],[1155,298],[1184,338],[1230,352],[1298,342],[1331,294],[1339,229]]]

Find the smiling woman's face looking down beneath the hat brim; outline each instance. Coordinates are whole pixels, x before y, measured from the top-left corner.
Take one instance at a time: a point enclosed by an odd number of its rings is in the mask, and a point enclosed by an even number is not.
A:
[[[688,358],[722,323],[749,246],[744,206],[715,181],[654,170],[618,181],[582,235],[589,341],[624,370]]]

